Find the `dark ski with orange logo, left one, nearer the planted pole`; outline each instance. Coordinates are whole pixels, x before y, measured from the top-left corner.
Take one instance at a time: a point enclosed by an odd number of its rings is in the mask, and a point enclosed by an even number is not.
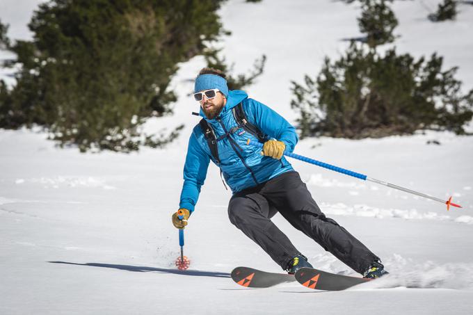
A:
[[[284,282],[294,282],[294,275],[287,273],[267,273],[249,267],[236,267],[232,270],[232,280],[248,288],[268,288]]]

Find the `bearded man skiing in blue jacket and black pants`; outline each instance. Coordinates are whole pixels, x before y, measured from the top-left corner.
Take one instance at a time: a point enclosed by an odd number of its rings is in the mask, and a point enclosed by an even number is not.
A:
[[[246,92],[228,90],[225,74],[212,68],[200,71],[194,92],[203,119],[189,139],[179,204],[185,214],[179,220],[177,212],[173,213],[175,227],[187,225],[213,161],[232,189],[230,222],[283,270],[294,274],[312,265],[271,221],[277,212],[363,277],[387,273],[374,253],[321,212],[298,172],[284,158],[284,151],[293,152],[298,141],[289,122],[248,98]],[[248,139],[264,143],[263,149],[247,145]]]

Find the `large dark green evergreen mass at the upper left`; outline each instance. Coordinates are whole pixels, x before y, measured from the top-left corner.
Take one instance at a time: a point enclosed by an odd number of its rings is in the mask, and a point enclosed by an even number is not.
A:
[[[170,113],[176,99],[168,89],[170,79],[178,63],[202,54],[205,43],[221,35],[216,10],[222,2],[41,4],[29,24],[33,40],[10,45],[17,58],[9,65],[19,64],[21,70],[10,100],[0,103],[3,122],[40,124],[62,144],[81,150],[126,152],[143,143],[165,143],[140,139],[138,127],[149,117]]]

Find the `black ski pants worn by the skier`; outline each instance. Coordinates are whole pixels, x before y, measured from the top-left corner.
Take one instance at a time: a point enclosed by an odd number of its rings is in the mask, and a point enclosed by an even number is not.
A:
[[[282,269],[300,252],[271,221],[277,212],[358,273],[364,273],[379,259],[344,227],[327,218],[298,172],[290,171],[235,193],[228,205],[230,222],[261,246]]]

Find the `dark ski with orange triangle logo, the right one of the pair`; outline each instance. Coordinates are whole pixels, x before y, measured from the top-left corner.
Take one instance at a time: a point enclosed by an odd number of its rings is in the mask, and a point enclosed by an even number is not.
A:
[[[309,289],[341,291],[357,284],[369,282],[371,279],[351,277],[348,275],[337,275],[314,268],[300,268],[295,278],[297,282]]]

